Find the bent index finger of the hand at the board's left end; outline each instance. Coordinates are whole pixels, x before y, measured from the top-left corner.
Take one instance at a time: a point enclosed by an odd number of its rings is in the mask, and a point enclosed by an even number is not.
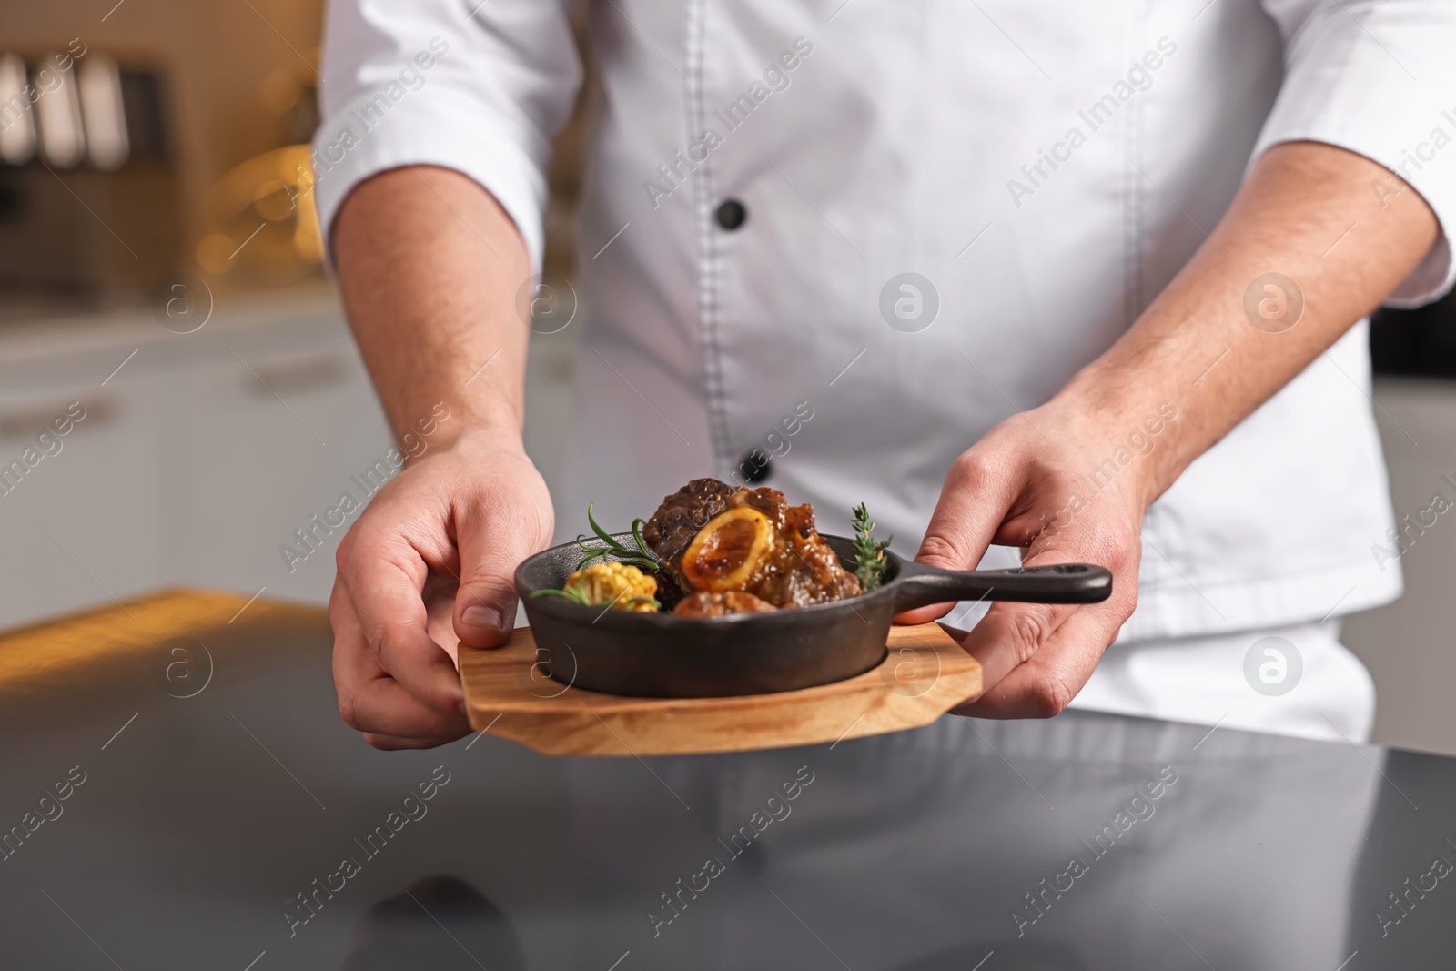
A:
[[[345,591],[364,642],[379,667],[421,705],[463,710],[454,662],[430,636],[421,594],[428,569],[419,552],[399,537],[365,533],[344,566]]]

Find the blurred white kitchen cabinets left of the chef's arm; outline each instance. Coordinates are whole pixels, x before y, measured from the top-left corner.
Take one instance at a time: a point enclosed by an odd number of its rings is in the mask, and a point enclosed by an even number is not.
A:
[[[342,530],[291,572],[278,547],[392,444],[332,297],[0,333],[0,463],[73,400],[0,495],[0,627],[179,584],[328,600]]]

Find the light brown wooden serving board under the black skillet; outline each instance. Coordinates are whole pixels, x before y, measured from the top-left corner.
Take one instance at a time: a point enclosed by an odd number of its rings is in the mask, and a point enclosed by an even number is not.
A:
[[[476,731],[546,756],[683,756],[817,745],[929,725],[981,693],[981,667],[939,625],[891,627],[878,668],[834,684],[741,697],[620,697],[533,670],[536,641],[460,645]]]

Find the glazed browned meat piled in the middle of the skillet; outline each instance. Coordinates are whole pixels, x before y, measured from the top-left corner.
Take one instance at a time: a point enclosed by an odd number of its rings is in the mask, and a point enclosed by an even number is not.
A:
[[[862,592],[814,528],[814,508],[778,489],[731,489],[695,479],[667,496],[642,531],[693,592],[754,594],[776,607]]]

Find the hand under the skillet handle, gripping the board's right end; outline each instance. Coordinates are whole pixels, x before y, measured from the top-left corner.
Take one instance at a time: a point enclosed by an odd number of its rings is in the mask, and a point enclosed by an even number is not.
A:
[[[1098,604],[993,603],[961,645],[981,662],[987,689],[958,715],[1057,715],[1092,675],[1137,604],[1146,508],[1139,466],[1147,464],[1142,450],[1153,447],[1156,435],[1143,427],[1098,428],[1069,403],[1053,402],[1006,419],[951,466],[916,560],[976,569],[994,543],[1024,547],[1025,566],[1112,571],[1112,595]],[[1118,454],[1133,457],[1120,466]],[[949,607],[922,607],[898,620],[922,623]]]

